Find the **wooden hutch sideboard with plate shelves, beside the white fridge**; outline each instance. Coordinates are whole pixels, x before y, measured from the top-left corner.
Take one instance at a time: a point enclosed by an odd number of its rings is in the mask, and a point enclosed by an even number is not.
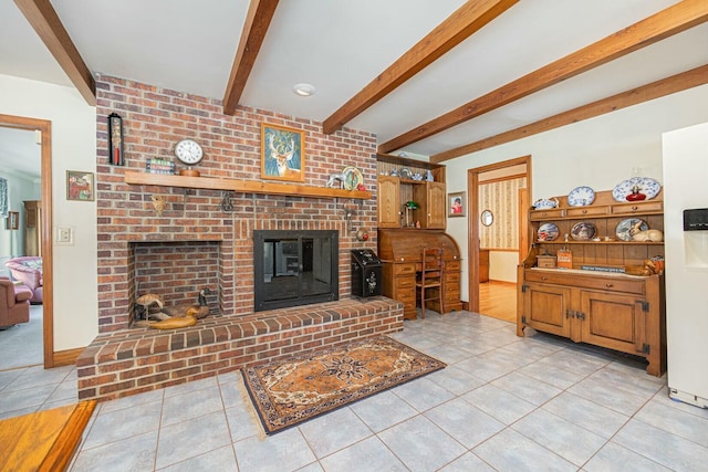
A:
[[[666,371],[666,313],[664,276],[628,275],[590,270],[641,266],[650,258],[664,256],[662,242],[625,241],[616,229],[627,218],[642,219],[652,229],[663,230],[663,202],[617,202],[612,192],[598,192],[586,207],[569,207],[566,197],[556,197],[558,208],[530,210],[534,238],[544,223],[553,223],[559,235],[553,241],[537,240],[518,269],[517,335],[524,328],[568,337],[577,343],[644,357],[647,373]],[[600,241],[565,241],[580,222],[592,223]],[[606,239],[607,238],[607,239]],[[569,249],[572,269],[542,269],[537,255],[556,255]],[[583,266],[585,270],[583,270]]]

